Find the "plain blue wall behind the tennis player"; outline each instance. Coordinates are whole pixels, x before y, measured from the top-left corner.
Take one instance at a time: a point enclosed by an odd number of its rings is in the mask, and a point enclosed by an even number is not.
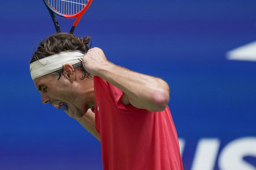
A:
[[[111,62],[167,81],[187,170],[201,138],[218,138],[221,150],[256,136],[255,62],[226,60],[227,51],[256,39],[255,7],[249,0],[94,0],[74,34],[91,36]],[[0,16],[0,169],[102,169],[100,143],[43,105],[30,77],[38,42],[55,33],[45,5],[2,2]],[[63,32],[74,22],[58,21]],[[248,161],[256,169],[256,158]]]

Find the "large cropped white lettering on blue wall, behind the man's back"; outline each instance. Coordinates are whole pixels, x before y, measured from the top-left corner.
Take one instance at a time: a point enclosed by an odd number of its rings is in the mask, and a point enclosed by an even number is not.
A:
[[[184,139],[179,138],[181,156],[185,143]],[[200,139],[191,170],[213,170],[220,143],[218,138]],[[243,160],[245,156],[256,157],[256,137],[238,138],[224,146],[219,154],[218,168],[220,170],[256,170],[256,167]]]

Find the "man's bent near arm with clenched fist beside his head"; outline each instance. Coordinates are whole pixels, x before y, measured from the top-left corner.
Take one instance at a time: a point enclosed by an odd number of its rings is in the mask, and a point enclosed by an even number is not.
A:
[[[99,48],[88,50],[82,62],[89,73],[103,78],[125,93],[121,98],[123,104],[132,104],[150,112],[166,108],[169,86],[164,80],[114,65],[107,61]]]

